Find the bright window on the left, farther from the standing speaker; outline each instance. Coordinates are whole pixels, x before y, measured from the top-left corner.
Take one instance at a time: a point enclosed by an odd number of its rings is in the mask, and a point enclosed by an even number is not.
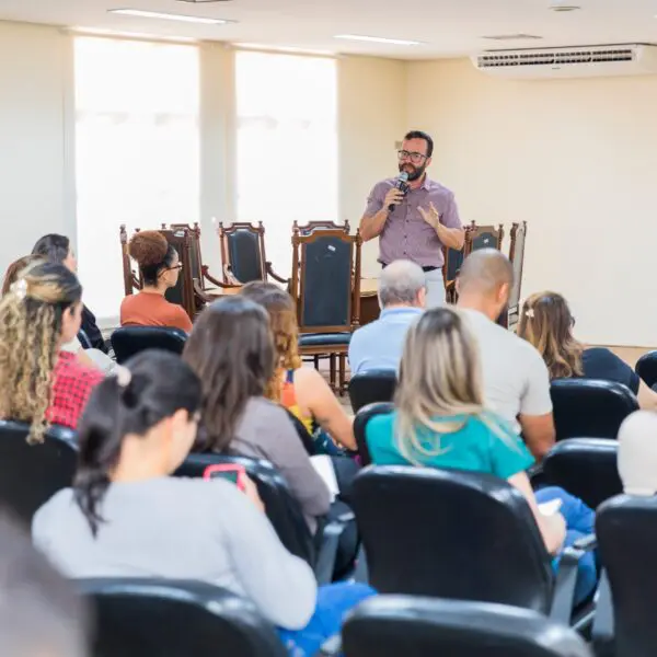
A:
[[[76,38],[78,260],[84,300],[117,318],[118,231],[199,219],[194,46]]]

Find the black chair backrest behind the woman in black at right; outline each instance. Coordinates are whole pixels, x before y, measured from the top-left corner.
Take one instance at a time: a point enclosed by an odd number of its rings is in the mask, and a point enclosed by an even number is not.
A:
[[[613,381],[558,379],[550,385],[556,439],[615,438],[621,423],[638,410],[632,391]]]

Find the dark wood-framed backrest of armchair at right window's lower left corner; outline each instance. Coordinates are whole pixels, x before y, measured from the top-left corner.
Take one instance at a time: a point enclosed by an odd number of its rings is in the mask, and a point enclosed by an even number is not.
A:
[[[228,272],[238,283],[266,280],[265,273],[265,228],[260,221],[257,227],[251,223],[219,223],[221,242],[221,262],[224,283],[231,283]]]

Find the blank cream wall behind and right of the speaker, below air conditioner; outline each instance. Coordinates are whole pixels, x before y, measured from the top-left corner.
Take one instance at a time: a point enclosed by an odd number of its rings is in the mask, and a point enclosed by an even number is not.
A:
[[[657,77],[516,82],[446,60],[410,64],[407,85],[462,219],[527,220],[522,296],[564,293],[589,343],[657,345]]]

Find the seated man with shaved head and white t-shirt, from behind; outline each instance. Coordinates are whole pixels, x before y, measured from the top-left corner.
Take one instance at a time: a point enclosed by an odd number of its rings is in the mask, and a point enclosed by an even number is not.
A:
[[[541,459],[555,437],[548,368],[528,342],[496,323],[512,281],[506,255],[494,249],[475,251],[461,267],[458,304],[479,343],[486,405],[521,429],[529,449]]]

